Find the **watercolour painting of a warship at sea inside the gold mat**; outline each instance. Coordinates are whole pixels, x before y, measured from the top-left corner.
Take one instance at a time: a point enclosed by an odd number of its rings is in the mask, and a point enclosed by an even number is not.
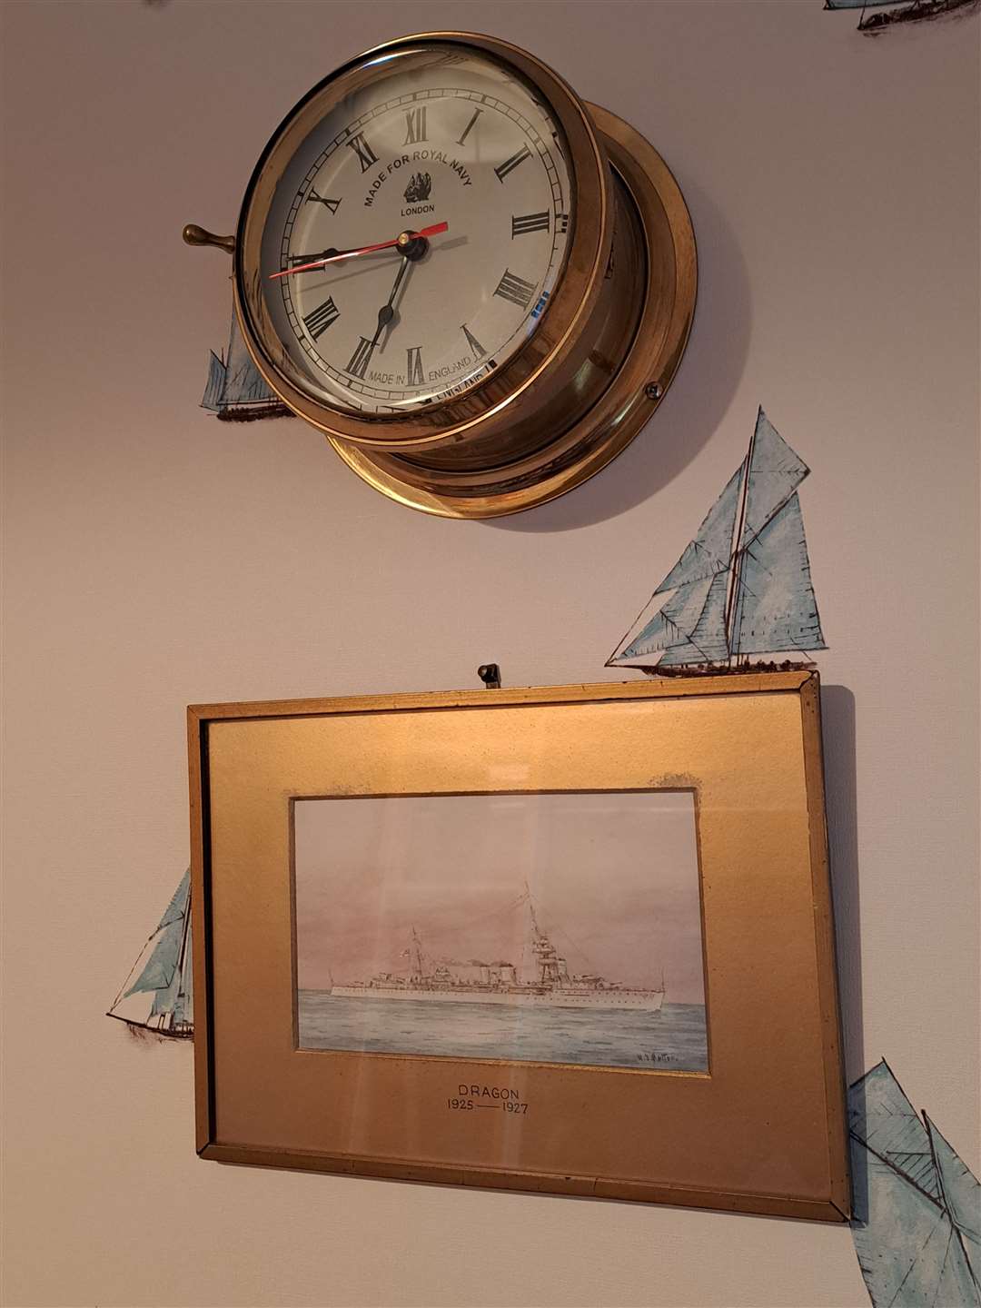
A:
[[[708,1070],[691,793],[294,816],[301,1048]]]

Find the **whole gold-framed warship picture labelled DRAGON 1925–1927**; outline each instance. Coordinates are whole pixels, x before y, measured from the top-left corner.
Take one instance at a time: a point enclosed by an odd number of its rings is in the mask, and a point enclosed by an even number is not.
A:
[[[816,674],[188,729],[204,1158],[848,1218]]]

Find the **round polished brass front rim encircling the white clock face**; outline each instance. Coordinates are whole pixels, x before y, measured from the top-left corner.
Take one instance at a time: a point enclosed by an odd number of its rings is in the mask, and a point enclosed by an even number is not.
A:
[[[266,307],[262,238],[283,171],[300,144],[334,105],[374,77],[378,56],[426,46],[463,46],[510,65],[547,102],[569,148],[570,238],[551,301],[534,332],[493,373],[447,400],[409,415],[352,415],[297,386],[275,353],[286,354]],[[378,450],[426,450],[479,436],[481,443],[513,425],[513,405],[535,387],[535,405],[568,386],[590,349],[590,315],[600,296],[612,242],[611,175],[590,115],[572,88],[534,55],[476,33],[434,31],[402,37],[365,51],[318,82],[273,132],[245,192],[235,238],[234,298],[242,334],[271,388],[331,441]]]

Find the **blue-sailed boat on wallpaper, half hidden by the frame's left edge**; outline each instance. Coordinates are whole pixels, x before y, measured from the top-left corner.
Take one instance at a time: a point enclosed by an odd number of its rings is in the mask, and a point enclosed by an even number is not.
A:
[[[194,1035],[190,871],[184,872],[107,1015],[161,1036]]]

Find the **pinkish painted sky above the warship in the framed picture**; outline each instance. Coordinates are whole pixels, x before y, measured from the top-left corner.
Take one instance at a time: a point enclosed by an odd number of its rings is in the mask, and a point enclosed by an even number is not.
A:
[[[688,791],[297,800],[300,986],[404,972],[412,926],[433,959],[522,967],[526,883],[572,972],[704,1002]]]

